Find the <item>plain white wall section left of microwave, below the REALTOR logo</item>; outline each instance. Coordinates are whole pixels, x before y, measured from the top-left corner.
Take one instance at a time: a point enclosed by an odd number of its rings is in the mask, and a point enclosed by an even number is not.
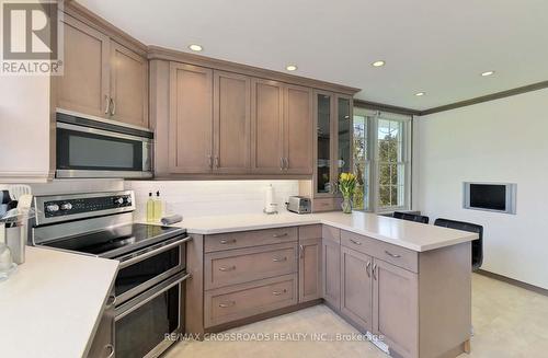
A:
[[[0,183],[46,181],[49,77],[0,77]]]

